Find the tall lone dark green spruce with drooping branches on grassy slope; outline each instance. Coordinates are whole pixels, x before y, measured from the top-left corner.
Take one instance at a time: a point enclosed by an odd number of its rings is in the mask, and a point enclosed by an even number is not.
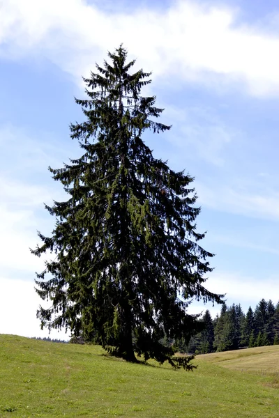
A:
[[[70,136],[83,155],[50,168],[69,198],[45,206],[55,228],[38,233],[43,243],[32,251],[55,255],[37,274],[38,295],[52,302],[37,315],[41,327],[66,327],[128,361],[136,353],[187,367],[160,340],[190,339],[189,300],[221,302],[204,287],[213,254],[198,244],[193,178],[153,157],[142,139],[170,128],[155,121],[163,111],[156,97],[141,95],[150,73],[131,73],[135,61],[122,46],[108,56],[84,79],[88,99],[75,99],[86,121],[70,125]]]

